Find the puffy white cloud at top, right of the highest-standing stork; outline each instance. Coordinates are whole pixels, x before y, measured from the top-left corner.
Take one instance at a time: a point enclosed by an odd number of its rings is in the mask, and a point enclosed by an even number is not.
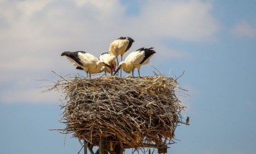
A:
[[[212,40],[220,26],[211,14],[212,4],[201,1],[150,1],[133,28],[141,35],[187,41]]]

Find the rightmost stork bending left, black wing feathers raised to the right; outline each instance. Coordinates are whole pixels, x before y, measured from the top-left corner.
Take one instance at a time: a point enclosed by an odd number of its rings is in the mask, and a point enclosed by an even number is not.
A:
[[[125,61],[119,63],[119,66],[115,71],[115,74],[117,74],[117,72],[121,68],[123,68],[123,70],[127,73],[132,72],[132,76],[133,76],[133,71],[135,70],[135,68],[137,68],[138,74],[139,74],[140,67],[142,65],[148,64],[150,62],[150,58],[154,54],[156,54],[156,52],[152,49],[154,48],[139,48],[135,52],[131,52],[131,54],[129,54],[127,58],[125,58]]]

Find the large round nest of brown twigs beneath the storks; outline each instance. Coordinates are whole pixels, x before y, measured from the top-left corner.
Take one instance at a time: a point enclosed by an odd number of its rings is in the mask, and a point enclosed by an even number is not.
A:
[[[53,87],[65,94],[65,129],[59,131],[94,145],[104,139],[123,149],[170,144],[185,108],[175,95],[178,85],[162,75],[61,78]]]

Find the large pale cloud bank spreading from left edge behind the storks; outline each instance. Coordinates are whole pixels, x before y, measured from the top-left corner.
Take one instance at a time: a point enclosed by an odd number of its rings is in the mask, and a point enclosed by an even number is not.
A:
[[[2,100],[42,102],[31,90],[33,82],[20,81],[53,78],[51,70],[76,73],[60,56],[63,51],[86,50],[99,56],[110,42],[127,35],[135,40],[131,50],[155,47],[159,57],[177,58],[187,55],[162,40],[211,40],[220,28],[212,4],[199,0],[147,1],[132,17],[125,9],[118,0],[0,1],[0,84],[7,86],[0,90]]]

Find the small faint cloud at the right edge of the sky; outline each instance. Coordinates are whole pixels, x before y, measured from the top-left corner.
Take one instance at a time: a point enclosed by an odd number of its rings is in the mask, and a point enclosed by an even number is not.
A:
[[[247,20],[241,20],[234,25],[231,33],[238,37],[256,37],[256,25],[251,25]]]

